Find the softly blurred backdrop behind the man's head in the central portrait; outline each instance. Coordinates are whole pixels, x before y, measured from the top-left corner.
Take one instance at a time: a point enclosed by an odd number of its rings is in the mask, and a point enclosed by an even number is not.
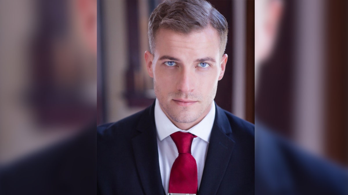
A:
[[[118,121],[155,99],[144,52],[148,23],[161,0],[97,0],[98,122]],[[254,122],[254,2],[210,0],[229,25],[228,62],[216,103]]]

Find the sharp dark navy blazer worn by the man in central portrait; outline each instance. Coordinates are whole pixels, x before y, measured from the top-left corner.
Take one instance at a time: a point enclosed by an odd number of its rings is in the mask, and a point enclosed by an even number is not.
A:
[[[215,107],[198,194],[254,194],[254,125]],[[98,194],[165,194],[154,108],[97,128]]]

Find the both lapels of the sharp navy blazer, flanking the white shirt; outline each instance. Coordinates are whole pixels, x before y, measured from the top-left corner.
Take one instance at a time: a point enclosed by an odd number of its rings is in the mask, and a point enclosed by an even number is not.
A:
[[[145,109],[132,139],[136,167],[145,194],[165,194],[159,169],[155,125],[155,102]],[[235,142],[230,122],[215,103],[215,120],[209,140],[207,158],[198,191],[199,195],[216,194],[230,161]]]

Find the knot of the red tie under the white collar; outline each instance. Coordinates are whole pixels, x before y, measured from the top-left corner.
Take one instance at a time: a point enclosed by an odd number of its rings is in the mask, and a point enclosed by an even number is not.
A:
[[[171,135],[177,151],[179,153],[189,153],[191,154],[191,145],[193,138],[197,137],[195,135],[192,135],[190,133],[184,133],[184,132],[175,132]]]

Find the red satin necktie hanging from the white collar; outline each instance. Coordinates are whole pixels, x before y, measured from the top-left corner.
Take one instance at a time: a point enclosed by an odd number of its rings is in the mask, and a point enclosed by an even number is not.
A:
[[[191,155],[193,138],[190,133],[175,132],[171,135],[179,152],[169,177],[169,193],[197,194],[197,164]]]

